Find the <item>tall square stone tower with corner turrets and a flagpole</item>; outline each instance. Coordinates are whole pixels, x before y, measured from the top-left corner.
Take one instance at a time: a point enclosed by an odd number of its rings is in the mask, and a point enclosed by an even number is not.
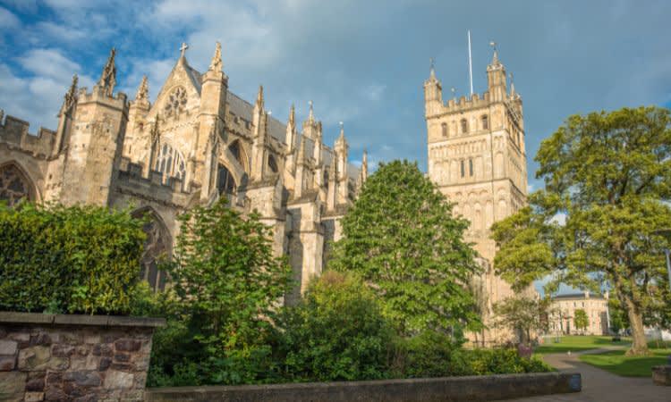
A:
[[[488,267],[480,286],[487,299],[486,313],[491,313],[492,305],[512,291],[493,272],[496,245],[489,239],[489,228],[526,204],[527,163],[522,97],[515,92],[512,78],[508,88],[496,49],[487,79],[488,90],[481,96],[444,102],[431,66],[424,99],[429,178],[455,203],[454,214],[471,222],[466,239],[475,244]],[[488,342],[507,338],[494,330],[481,336]]]

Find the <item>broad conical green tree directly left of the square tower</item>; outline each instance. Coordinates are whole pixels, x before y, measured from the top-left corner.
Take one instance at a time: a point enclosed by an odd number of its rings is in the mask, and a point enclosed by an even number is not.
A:
[[[417,167],[380,164],[342,220],[330,268],[358,272],[402,334],[480,328],[467,289],[479,272],[463,241],[468,222]]]

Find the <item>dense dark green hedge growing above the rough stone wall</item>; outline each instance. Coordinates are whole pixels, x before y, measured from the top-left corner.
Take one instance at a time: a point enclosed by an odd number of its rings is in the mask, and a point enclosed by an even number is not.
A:
[[[144,239],[128,211],[0,205],[0,310],[127,314]]]

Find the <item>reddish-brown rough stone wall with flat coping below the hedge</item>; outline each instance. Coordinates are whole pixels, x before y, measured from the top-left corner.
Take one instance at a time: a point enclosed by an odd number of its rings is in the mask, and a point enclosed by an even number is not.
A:
[[[0,400],[140,401],[162,319],[0,312]]]

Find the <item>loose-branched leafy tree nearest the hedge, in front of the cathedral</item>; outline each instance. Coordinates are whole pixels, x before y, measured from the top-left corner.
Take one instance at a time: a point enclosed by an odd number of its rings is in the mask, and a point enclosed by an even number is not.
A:
[[[225,200],[180,215],[168,265],[178,307],[154,356],[157,377],[192,383],[250,383],[275,372],[272,320],[290,288],[291,268],[273,256],[270,228]],[[176,345],[175,345],[176,343]],[[193,372],[197,373],[193,373]]]

